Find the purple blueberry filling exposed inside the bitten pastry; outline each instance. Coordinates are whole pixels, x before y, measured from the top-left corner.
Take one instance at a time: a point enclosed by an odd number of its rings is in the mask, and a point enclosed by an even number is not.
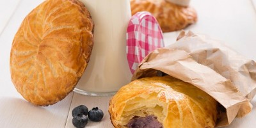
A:
[[[128,128],[163,128],[156,116],[134,116],[127,124]]]

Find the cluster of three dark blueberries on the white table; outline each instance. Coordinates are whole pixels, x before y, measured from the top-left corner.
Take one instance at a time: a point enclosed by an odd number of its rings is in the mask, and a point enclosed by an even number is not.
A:
[[[97,107],[92,108],[90,111],[88,111],[88,108],[86,106],[81,105],[77,106],[72,110],[72,116],[72,124],[77,128],[83,128],[88,123],[88,118],[93,122],[99,122],[103,118],[104,113],[101,109]]]

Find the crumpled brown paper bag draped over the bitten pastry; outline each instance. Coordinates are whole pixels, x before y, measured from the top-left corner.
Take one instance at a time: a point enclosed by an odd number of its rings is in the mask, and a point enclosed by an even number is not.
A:
[[[182,31],[175,44],[148,54],[132,80],[157,76],[160,71],[193,84],[216,99],[220,108],[225,108],[219,113],[216,127],[228,125],[252,109],[255,61],[215,40]]]

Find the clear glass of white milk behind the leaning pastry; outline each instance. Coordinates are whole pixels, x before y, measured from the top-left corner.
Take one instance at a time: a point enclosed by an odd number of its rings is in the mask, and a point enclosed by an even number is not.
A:
[[[94,45],[88,67],[75,91],[85,91],[88,95],[116,92],[130,82],[132,75],[125,52],[125,33],[131,19],[130,1],[81,1],[88,8],[95,24]]]

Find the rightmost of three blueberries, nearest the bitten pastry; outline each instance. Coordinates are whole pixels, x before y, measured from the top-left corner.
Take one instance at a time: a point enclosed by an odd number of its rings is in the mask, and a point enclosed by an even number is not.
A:
[[[99,122],[104,116],[104,113],[99,108],[92,108],[92,110],[88,113],[88,118],[92,120],[93,122]]]

